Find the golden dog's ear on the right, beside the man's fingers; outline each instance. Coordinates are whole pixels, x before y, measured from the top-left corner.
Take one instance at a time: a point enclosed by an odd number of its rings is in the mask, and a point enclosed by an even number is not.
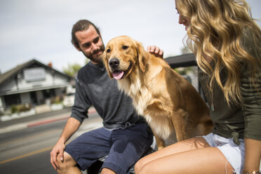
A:
[[[149,54],[145,51],[144,47],[140,42],[135,41],[135,45],[138,53],[138,65],[142,72],[145,72],[145,67],[149,58]]]

